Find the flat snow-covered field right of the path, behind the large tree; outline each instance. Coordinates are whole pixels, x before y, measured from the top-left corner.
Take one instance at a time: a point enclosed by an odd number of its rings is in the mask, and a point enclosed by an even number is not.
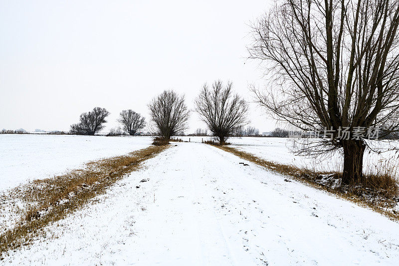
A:
[[[189,141],[189,138],[192,142],[201,142],[202,139],[210,139],[210,137],[182,137],[185,141]],[[341,154],[323,155],[318,158],[294,155],[294,140],[293,138],[233,137],[227,141],[232,144],[230,147],[249,152],[268,161],[291,164],[319,171],[342,171],[343,157]],[[399,148],[399,141],[393,142],[390,145],[386,142],[376,144],[386,147],[383,149],[384,151],[389,150],[390,146]],[[365,172],[375,173],[378,167],[381,169],[382,166],[388,165],[391,168],[395,168],[399,174],[399,152],[389,151],[378,154],[372,151],[369,153],[367,150],[363,164]]]

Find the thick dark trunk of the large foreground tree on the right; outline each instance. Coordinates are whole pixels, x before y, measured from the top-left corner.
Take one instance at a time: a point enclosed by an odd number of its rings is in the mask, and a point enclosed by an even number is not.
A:
[[[343,140],[344,172],[342,183],[356,184],[363,181],[363,155],[366,145],[363,140]]]

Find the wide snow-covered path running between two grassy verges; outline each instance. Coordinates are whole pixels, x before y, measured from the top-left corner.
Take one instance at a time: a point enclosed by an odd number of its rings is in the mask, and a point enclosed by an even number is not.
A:
[[[397,265],[397,223],[239,162],[178,143],[1,263]]]

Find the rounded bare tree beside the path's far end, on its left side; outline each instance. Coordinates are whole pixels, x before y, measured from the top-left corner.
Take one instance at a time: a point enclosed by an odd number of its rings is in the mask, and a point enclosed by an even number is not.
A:
[[[187,129],[190,117],[184,95],[173,90],[165,90],[148,104],[152,120],[153,134],[164,138],[169,143],[171,136],[181,134]]]

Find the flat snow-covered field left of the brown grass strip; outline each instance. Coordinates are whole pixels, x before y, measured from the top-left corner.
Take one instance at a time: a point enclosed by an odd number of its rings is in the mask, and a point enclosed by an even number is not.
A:
[[[0,134],[0,191],[124,155],[152,143],[151,137]]]

